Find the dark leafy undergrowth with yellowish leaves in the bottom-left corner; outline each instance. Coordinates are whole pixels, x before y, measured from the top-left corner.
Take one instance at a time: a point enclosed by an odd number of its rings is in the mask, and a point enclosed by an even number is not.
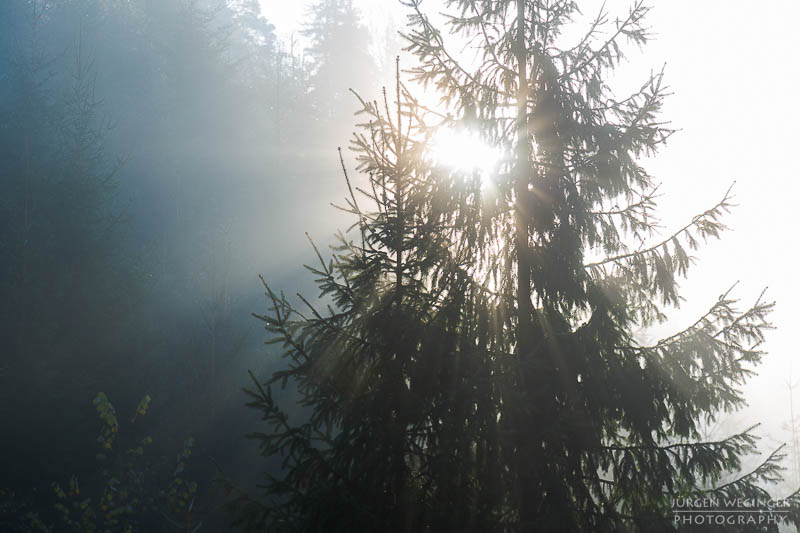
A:
[[[147,415],[150,402],[150,396],[142,398],[122,432],[113,404],[105,393],[98,393],[93,405],[102,427],[96,439],[96,471],[73,475],[63,484],[53,482],[54,501],[41,511],[33,510],[13,490],[0,490],[0,529],[39,533],[201,530],[201,513],[195,506],[198,484],[187,473],[194,439],[183,442],[165,473],[166,465],[151,452],[153,438],[142,436],[135,427]]]

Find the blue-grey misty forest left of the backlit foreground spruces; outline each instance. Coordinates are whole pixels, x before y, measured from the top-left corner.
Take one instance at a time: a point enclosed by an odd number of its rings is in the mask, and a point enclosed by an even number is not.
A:
[[[348,88],[374,97],[387,74],[342,6],[310,11],[301,46],[255,0],[0,5],[9,513],[49,505],[73,475],[100,483],[100,392],[133,439],[114,448],[152,438],[159,490],[190,437],[206,510],[217,468],[258,480],[241,393],[248,369],[271,364],[251,316],[257,275],[309,285],[304,232],[339,224],[327,206],[343,184]]]

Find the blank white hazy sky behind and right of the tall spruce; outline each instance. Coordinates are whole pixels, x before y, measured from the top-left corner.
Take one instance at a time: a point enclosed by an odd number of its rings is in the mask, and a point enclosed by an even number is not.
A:
[[[302,2],[262,0],[280,35],[302,22]],[[580,2],[595,13],[602,2]],[[631,2],[612,0],[613,15],[624,16]],[[356,0],[371,25],[396,2]],[[435,11],[437,2],[423,4]],[[794,262],[800,208],[797,157],[797,81],[800,34],[795,24],[800,3],[770,0],[757,6],[729,0],[672,0],[656,4],[649,16],[655,39],[635,48],[613,86],[633,89],[650,69],[666,64],[665,79],[674,95],[663,117],[679,131],[647,168],[663,181],[660,202],[665,232],[682,226],[714,205],[736,182],[738,207],[726,220],[731,231],[698,251],[698,262],[683,284],[686,303],[669,329],[687,326],[734,282],[742,306],[761,289],[777,301],[768,338],[766,364],[748,386],[753,409],[771,417],[772,428],[788,418],[785,380],[790,369],[800,379],[798,349],[798,274]],[[612,20],[613,20],[612,16]],[[395,20],[402,21],[395,15]],[[622,94],[620,91],[620,95]],[[793,368],[792,368],[793,367]]]

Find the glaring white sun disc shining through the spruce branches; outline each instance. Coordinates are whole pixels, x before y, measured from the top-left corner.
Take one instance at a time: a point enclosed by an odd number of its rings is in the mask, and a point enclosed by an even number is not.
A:
[[[479,172],[484,178],[500,161],[500,151],[476,133],[464,129],[443,129],[436,133],[431,158],[454,170]]]

